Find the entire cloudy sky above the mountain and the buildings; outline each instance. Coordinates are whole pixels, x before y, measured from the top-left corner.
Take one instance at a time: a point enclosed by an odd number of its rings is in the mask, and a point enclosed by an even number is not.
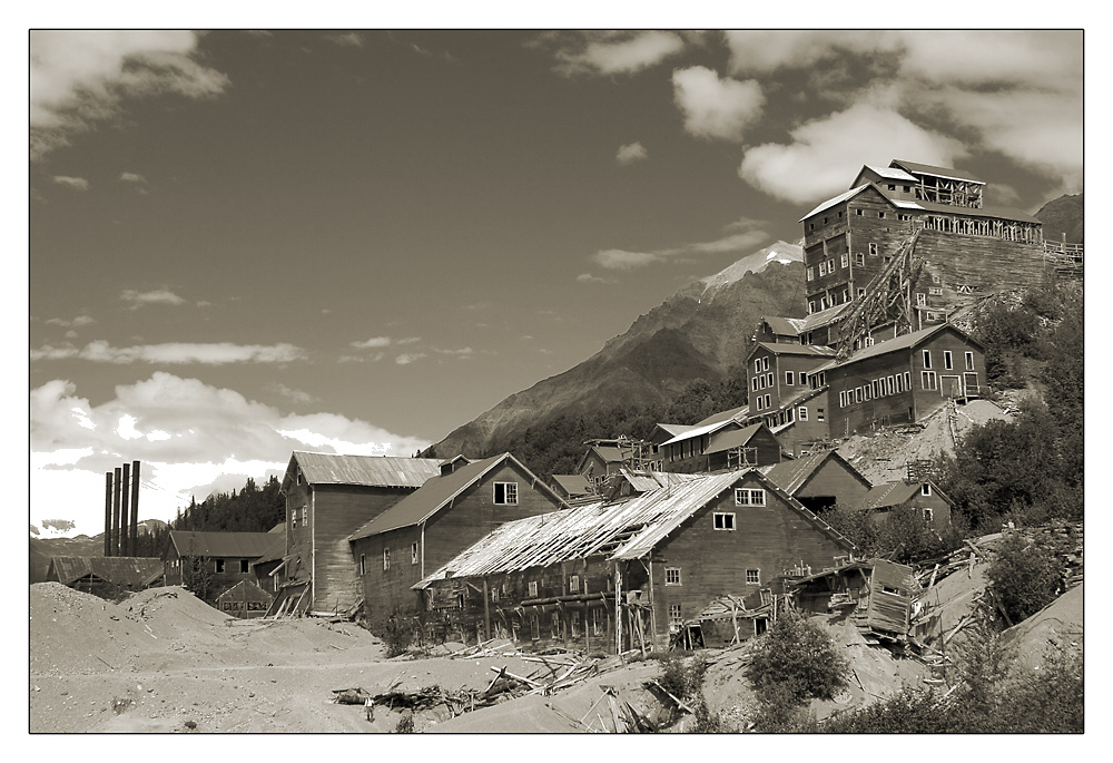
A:
[[[902,158],[1083,190],[1081,31],[32,31],[30,520],[413,456]]]

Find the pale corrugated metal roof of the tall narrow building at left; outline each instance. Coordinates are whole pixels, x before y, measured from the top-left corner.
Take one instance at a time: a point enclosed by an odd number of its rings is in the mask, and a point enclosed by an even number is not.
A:
[[[380,488],[420,488],[430,477],[441,473],[442,459],[400,458],[395,456],[341,456],[295,450],[290,466],[297,463],[309,485],[362,485]],[[290,482],[287,468],[283,487]]]

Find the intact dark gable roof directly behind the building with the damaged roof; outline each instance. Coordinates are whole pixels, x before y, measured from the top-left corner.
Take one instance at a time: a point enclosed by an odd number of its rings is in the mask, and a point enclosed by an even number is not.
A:
[[[558,506],[568,506],[564,499],[558,496],[552,488],[539,480],[524,463],[514,458],[511,453],[492,456],[479,461],[457,467],[455,471],[437,476],[430,479],[397,503],[378,515],[363,527],[348,536],[348,540],[358,540],[381,532],[397,530],[403,527],[412,527],[426,521],[434,513],[452,502],[452,500],[467,488],[479,482],[487,472],[504,462],[513,463],[521,470],[526,479],[533,480],[533,488],[548,493]]]

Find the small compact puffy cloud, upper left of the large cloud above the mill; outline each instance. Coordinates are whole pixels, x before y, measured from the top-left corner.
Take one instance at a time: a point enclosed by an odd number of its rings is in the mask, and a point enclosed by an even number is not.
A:
[[[757,80],[720,79],[702,66],[673,71],[672,95],[684,115],[684,129],[698,138],[741,140],[765,106]]]

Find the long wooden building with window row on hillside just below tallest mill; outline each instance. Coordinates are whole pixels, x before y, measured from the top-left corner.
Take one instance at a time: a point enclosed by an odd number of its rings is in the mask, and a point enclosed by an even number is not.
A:
[[[981,397],[985,352],[977,340],[942,323],[877,342],[809,376],[819,374],[827,391],[830,436],[843,438],[920,421],[949,400]]]

